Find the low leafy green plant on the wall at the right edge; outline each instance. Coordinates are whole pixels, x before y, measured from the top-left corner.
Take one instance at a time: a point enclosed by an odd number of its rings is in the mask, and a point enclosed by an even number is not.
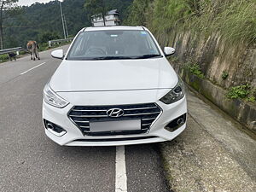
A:
[[[255,90],[249,84],[231,87],[227,93],[230,99],[245,99],[247,102],[255,102]]]

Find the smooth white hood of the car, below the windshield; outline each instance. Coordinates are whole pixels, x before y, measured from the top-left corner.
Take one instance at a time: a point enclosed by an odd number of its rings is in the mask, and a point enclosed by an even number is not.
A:
[[[171,89],[177,74],[166,58],[62,61],[50,80],[56,92]]]

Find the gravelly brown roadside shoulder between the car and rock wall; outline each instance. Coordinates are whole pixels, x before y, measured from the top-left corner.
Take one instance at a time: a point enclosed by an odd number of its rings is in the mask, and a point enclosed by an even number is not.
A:
[[[256,191],[256,141],[195,94],[188,94],[188,127],[161,143],[174,191]]]

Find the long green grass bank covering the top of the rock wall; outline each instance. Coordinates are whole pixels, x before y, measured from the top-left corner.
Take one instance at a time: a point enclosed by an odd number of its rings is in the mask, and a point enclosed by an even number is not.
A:
[[[251,44],[256,41],[255,10],[255,0],[134,0],[127,22],[147,24],[157,34],[219,32],[227,42]]]

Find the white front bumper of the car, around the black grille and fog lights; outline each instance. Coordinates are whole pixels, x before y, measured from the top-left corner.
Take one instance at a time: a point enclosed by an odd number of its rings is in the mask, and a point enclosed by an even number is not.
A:
[[[67,131],[62,137],[55,136],[47,129],[45,129],[45,133],[55,143],[67,146],[118,146],[170,141],[177,137],[186,127],[185,123],[176,131],[167,131],[165,129],[166,125],[173,119],[187,113],[186,97],[184,96],[183,99],[170,105],[162,102],[156,102],[156,104],[162,109],[162,113],[154,124],[151,125],[147,133],[99,137],[84,136],[79,128],[67,117],[67,113],[73,108],[73,105],[69,104],[66,108],[55,108],[43,102],[43,119],[59,125]]]

